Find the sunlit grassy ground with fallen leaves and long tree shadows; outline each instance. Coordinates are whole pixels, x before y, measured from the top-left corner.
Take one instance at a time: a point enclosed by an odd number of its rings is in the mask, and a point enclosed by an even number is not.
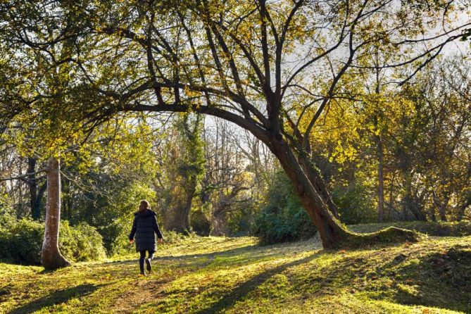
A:
[[[322,250],[318,239],[164,245],[46,272],[0,263],[0,313],[471,313],[471,237]]]

